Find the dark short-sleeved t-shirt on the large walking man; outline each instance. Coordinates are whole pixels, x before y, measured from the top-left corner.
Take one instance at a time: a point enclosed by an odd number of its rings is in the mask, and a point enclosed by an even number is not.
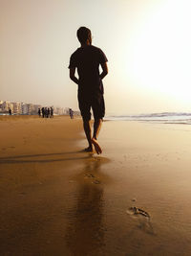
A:
[[[78,90],[84,93],[99,91],[103,94],[103,83],[99,78],[99,64],[107,62],[104,53],[93,45],[78,48],[70,58],[69,68],[77,68]]]

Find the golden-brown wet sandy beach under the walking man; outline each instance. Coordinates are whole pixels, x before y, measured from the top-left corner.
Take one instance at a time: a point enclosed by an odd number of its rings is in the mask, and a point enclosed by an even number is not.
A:
[[[0,255],[190,255],[191,127],[0,117]]]

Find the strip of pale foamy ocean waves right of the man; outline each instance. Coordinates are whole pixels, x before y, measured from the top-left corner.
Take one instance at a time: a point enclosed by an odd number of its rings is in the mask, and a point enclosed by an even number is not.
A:
[[[110,115],[106,116],[107,121],[139,121],[160,124],[182,124],[191,125],[191,113],[184,112],[162,112],[138,115]]]

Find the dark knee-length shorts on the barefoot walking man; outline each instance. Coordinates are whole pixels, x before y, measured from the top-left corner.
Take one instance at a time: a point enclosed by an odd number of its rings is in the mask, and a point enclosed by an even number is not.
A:
[[[91,119],[91,107],[95,119],[102,119],[105,115],[104,98],[100,92],[85,94],[78,91],[78,104],[84,120]]]

